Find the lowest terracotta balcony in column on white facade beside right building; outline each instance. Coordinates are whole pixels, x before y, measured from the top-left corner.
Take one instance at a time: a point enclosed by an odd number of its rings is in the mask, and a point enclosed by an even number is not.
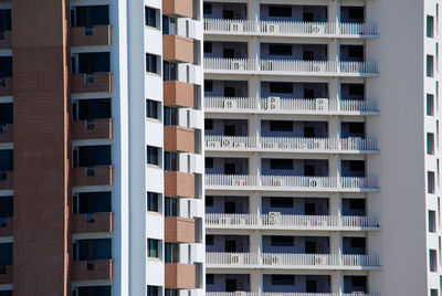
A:
[[[193,264],[165,264],[165,288],[194,289],[196,279],[197,268]]]

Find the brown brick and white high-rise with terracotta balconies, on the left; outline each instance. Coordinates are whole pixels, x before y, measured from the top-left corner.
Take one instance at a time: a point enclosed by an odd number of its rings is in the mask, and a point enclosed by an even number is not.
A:
[[[203,292],[202,3],[0,0],[0,295]]]

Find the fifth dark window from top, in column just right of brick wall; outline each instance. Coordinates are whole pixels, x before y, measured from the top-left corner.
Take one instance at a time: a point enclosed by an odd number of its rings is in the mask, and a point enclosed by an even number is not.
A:
[[[112,193],[106,192],[82,192],[72,198],[72,211],[75,214],[109,213],[112,212]],[[1,199],[0,199],[1,209]],[[0,210],[1,212],[1,210]]]

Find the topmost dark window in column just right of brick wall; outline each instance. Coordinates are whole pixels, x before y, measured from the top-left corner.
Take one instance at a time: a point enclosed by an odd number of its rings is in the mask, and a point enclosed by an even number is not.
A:
[[[109,8],[107,6],[76,7],[71,22],[73,27],[109,24]]]

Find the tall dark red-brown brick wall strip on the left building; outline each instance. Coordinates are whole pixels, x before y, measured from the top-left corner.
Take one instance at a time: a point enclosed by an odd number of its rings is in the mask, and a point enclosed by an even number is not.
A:
[[[13,0],[14,296],[69,285],[69,44],[65,0]]]

